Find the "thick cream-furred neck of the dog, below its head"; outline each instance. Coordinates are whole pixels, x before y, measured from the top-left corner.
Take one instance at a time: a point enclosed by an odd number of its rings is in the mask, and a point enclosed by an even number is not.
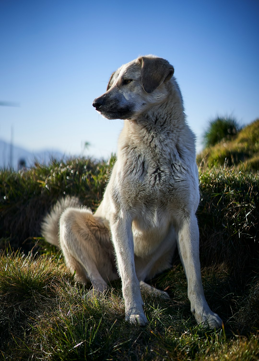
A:
[[[177,149],[195,154],[194,135],[186,124],[181,93],[172,79],[168,84],[167,99],[151,105],[136,119],[124,121],[118,156],[121,152],[128,155],[146,152],[147,157],[152,153],[153,159],[162,155],[171,158],[173,153],[178,152]]]

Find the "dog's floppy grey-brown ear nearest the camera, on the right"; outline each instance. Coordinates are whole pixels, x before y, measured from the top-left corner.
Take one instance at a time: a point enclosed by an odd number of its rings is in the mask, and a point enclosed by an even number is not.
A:
[[[141,64],[141,83],[146,93],[152,93],[173,76],[174,68],[165,59],[142,56],[138,61]]]

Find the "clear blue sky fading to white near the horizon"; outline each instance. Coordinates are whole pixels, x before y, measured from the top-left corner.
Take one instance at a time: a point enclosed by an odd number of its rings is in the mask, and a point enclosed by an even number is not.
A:
[[[139,55],[174,66],[201,147],[208,120],[259,117],[259,1],[0,0],[0,139],[108,158],[121,120],[92,107]]]

